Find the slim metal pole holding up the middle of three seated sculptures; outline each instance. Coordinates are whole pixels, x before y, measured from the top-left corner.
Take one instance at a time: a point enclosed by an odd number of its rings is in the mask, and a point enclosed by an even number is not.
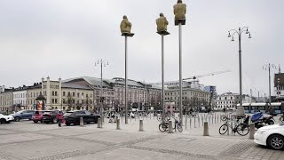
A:
[[[164,44],[162,35],[162,123],[165,122],[165,91],[164,91]]]

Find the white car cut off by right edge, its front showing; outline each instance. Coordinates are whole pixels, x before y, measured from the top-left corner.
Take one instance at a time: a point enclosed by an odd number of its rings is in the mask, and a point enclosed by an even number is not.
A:
[[[284,149],[284,124],[274,124],[259,128],[255,133],[254,141],[272,149]]]

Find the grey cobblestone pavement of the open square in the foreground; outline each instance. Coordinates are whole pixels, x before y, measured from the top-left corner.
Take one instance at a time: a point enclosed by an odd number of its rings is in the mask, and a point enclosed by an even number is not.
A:
[[[188,119],[187,119],[188,120]],[[106,122],[106,120],[105,120]],[[33,124],[31,121],[0,125],[0,160],[88,160],[88,159],[283,159],[283,151],[256,145],[248,136],[219,135],[217,122],[202,135],[202,124],[187,121],[184,132],[162,133],[153,117],[121,124],[66,126]],[[201,122],[201,119],[200,119]],[[184,122],[185,124],[185,122]]]

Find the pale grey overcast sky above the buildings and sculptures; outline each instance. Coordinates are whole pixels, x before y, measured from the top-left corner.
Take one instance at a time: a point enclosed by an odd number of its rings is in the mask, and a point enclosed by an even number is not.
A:
[[[283,0],[184,0],[183,77],[231,69],[204,76],[201,84],[217,92],[239,92],[238,38],[231,28],[248,26],[252,39],[241,41],[243,92],[268,94],[264,64],[284,69]],[[122,16],[128,16],[135,36],[129,38],[129,78],[154,83],[161,78],[161,36],[155,20],[169,20],[165,36],[165,80],[178,80],[178,28],[173,5],[177,0],[1,0],[0,85],[18,87],[42,77],[100,77],[99,59],[108,60],[104,78],[124,77]],[[273,73],[278,69],[272,70]]]

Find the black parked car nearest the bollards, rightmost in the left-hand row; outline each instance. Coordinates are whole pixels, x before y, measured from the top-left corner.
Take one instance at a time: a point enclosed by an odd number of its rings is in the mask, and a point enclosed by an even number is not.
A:
[[[75,111],[68,111],[64,115],[65,124],[80,124],[80,118],[83,117],[83,122],[90,124],[94,122],[98,124],[98,118],[100,117],[98,114],[91,114],[88,110],[75,110]]]

